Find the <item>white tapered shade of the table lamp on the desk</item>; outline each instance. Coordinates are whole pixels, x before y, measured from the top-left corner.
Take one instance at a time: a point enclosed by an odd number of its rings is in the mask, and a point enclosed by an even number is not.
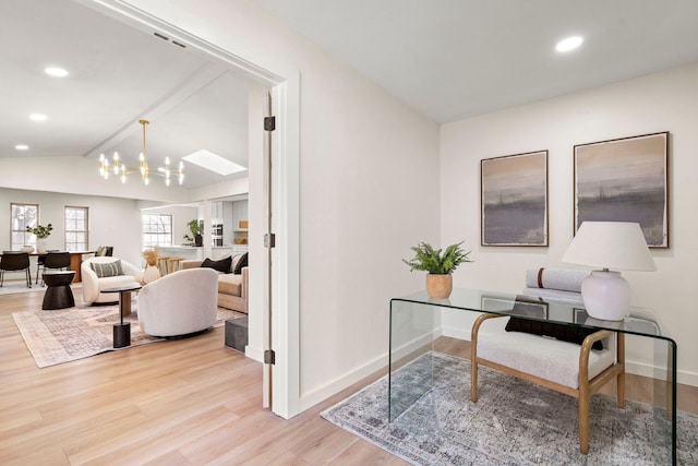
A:
[[[655,271],[639,224],[585,222],[563,262],[622,271]]]

